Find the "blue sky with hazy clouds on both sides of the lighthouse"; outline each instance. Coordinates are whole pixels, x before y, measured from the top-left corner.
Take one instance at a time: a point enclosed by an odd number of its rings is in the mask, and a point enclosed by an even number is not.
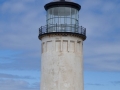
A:
[[[52,0],[0,0],[0,90],[39,90],[44,5]],[[84,90],[120,90],[120,0],[73,0],[81,5]]]

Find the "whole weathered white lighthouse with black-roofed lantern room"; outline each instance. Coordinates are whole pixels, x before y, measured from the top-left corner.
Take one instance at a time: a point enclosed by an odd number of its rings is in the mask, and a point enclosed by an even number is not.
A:
[[[44,6],[46,25],[41,40],[40,90],[84,90],[83,41],[86,28],[79,26],[77,3],[56,0]]]

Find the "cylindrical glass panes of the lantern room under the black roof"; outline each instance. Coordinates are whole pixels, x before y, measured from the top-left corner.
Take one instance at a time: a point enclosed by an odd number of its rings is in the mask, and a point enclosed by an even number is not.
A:
[[[49,32],[75,32],[79,26],[79,12],[72,7],[53,7],[47,10],[47,26]],[[56,27],[56,28],[55,28]]]

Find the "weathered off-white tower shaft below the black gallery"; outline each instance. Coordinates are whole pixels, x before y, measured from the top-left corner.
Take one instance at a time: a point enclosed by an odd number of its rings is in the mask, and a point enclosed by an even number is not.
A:
[[[42,38],[40,90],[83,90],[82,43],[75,36]]]

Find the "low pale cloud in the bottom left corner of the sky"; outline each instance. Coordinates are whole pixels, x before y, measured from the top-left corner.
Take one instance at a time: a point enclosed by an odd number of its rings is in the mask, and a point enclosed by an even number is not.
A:
[[[39,90],[38,82],[30,84],[23,80],[2,80],[0,79],[1,90]]]

